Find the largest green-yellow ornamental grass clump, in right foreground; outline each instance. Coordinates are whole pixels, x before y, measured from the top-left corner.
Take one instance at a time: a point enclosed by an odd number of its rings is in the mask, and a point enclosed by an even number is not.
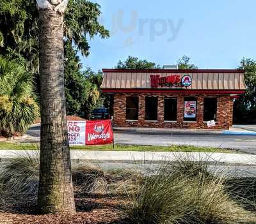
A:
[[[127,198],[129,203],[121,211],[130,223],[256,221],[255,214],[237,204],[225,190],[224,175],[210,173],[205,163],[178,161],[154,167]]]

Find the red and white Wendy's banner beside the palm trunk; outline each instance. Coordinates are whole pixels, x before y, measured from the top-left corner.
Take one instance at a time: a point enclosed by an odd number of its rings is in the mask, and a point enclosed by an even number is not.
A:
[[[102,145],[113,143],[111,120],[68,121],[70,145]]]

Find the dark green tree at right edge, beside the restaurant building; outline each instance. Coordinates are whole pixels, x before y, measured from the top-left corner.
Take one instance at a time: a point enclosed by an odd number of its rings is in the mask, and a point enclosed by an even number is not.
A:
[[[256,122],[256,61],[241,59],[239,69],[243,69],[246,93],[234,102],[234,123]]]

